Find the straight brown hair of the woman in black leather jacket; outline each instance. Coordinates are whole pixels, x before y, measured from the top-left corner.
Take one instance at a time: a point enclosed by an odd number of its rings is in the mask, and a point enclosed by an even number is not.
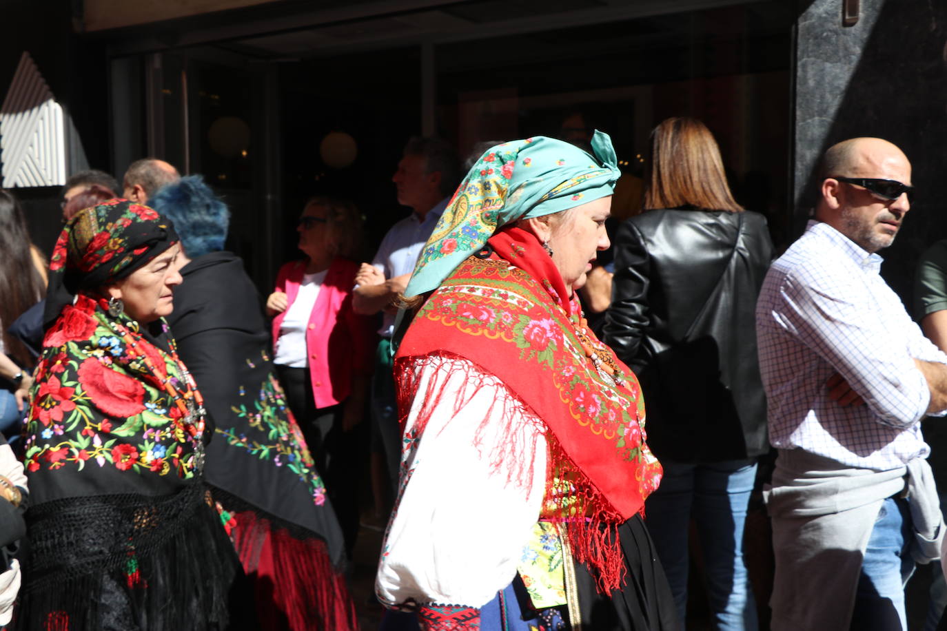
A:
[[[742,212],[726,184],[713,134],[696,118],[673,116],[654,128],[644,210],[693,206]]]

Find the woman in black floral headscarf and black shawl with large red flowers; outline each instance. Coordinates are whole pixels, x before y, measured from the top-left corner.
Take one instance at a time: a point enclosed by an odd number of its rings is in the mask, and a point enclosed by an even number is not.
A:
[[[251,615],[202,482],[205,410],[163,317],[170,221],[112,200],[63,229],[27,419],[21,628],[223,629]]]

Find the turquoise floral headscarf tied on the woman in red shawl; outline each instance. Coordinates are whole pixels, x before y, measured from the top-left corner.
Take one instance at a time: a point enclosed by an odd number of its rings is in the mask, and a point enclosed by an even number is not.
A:
[[[611,195],[621,175],[612,139],[596,131],[592,150],[545,136],[488,149],[457,187],[404,294],[437,289],[499,227]]]

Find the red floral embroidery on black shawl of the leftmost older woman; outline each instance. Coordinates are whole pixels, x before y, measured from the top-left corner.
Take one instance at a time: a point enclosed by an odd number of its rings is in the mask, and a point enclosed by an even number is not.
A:
[[[194,440],[179,426],[158,377],[180,379],[170,356],[144,339],[137,325],[119,316],[145,358],[109,327],[105,311],[80,295],[46,333],[27,417],[29,471],[112,466],[188,479],[194,472]],[[175,422],[177,421],[177,422]]]

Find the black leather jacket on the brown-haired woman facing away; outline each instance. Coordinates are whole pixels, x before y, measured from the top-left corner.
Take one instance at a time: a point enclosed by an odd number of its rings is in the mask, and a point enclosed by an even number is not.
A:
[[[752,212],[652,210],[618,229],[604,341],[641,380],[659,458],[768,450],[754,312],[772,254]]]

